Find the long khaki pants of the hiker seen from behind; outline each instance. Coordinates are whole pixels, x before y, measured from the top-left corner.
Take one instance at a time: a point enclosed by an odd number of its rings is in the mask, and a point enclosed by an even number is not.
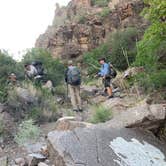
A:
[[[73,109],[82,109],[81,97],[80,97],[80,86],[69,85],[71,103]]]

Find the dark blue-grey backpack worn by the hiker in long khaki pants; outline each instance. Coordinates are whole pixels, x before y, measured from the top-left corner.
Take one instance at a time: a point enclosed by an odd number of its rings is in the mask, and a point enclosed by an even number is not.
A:
[[[67,82],[70,85],[80,85],[81,84],[81,74],[77,67],[68,69]]]

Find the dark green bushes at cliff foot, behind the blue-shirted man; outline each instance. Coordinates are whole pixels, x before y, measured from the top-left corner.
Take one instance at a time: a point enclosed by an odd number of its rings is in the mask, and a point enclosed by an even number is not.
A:
[[[105,57],[117,69],[125,70],[135,60],[137,35],[135,28],[117,31],[105,44],[85,53],[84,62],[89,66],[88,73],[90,75],[97,73],[100,68],[98,59],[101,57]]]

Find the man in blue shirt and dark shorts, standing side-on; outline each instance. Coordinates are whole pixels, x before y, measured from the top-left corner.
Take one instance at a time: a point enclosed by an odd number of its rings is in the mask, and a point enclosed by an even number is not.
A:
[[[108,99],[113,98],[112,87],[111,87],[111,76],[110,76],[110,65],[106,63],[105,58],[100,58],[98,62],[101,65],[99,77],[102,77],[104,87],[108,94]]]

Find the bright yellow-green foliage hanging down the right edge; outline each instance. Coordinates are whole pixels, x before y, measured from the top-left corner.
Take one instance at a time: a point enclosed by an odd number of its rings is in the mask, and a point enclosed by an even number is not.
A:
[[[144,66],[145,75],[142,76],[146,81],[142,86],[147,89],[158,89],[165,86],[166,68],[166,1],[165,0],[144,0],[147,7],[143,15],[150,20],[151,25],[145,31],[143,39],[137,45],[137,57],[134,65]],[[137,80],[140,84],[143,78]],[[148,78],[148,79],[147,79]]]

